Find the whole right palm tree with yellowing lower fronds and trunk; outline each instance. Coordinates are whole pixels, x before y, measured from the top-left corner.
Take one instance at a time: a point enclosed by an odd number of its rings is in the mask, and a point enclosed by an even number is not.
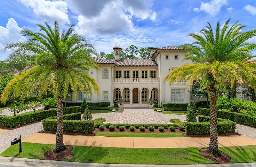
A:
[[[236,21],[228,26],[230,19],[224,24],[222,30],[218,21],[216,30],[211,24],[202,29],[201,34],[188,34],[196,40],[192,44],[183,44],[179,48],[188,52],[184,60],[192,60],[192,63],[175,68],[164,77],[164,82],[181,81],[186,78],[190,87],[193,81],[202,79],[201,85],[206,85],[210,97],[210,143],[207,149],[209,153],[220,155],[218,149],[217,131],[217,100],[225,79],[229,77],[231,86],[235,81],[242,80],[248,83],[256,91],[256,65],[250,61],[251,52],[256,49],[256,44],[247,40],[256,36],[256,30],[242,32],[245,26]]]

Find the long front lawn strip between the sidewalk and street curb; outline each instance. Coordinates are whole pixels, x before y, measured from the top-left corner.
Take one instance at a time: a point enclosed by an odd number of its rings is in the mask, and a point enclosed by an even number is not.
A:
[[[22,152],[19,145],[12,145],[0,156],[44,159],[44,153],[55,145],[22,143]],[[115,147],[87,147],[72,146],[74,158],[63,161],[92,163],[123,163],[123,164],[207,164],[216,163],[199,154],[200,148],[115,148]],[[255,162],[256,145],[219,147],[220,151],[231,157],[230,163]]]

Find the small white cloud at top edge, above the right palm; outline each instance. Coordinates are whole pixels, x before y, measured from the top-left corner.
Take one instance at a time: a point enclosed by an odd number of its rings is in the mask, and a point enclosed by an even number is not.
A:
[[[200,9],[194,8],[194,12],[204,11],[210,15],[215,16],[220,12],[220,8],[227,4],[227,0],[212,0],[211,2],[201,3]]]

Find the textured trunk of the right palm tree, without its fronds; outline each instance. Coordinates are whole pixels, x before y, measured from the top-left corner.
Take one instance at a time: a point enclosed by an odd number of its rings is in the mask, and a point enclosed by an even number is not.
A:
[[[218,114],[218,93],[219,91],[211,86],[209,90],[210,94],[210,143],[208,151],[215,156],[220,156],[218,149],[218,129],[217,129],[217,114]]]

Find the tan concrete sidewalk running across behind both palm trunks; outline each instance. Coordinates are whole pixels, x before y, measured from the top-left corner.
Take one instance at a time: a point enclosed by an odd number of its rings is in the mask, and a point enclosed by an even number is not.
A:
[[[56,134],[35,133],[23,142],[56,144]],[[104,137],[63,135],[65,145],[94,146],[94,147],[127,147],[127,148],[186,148],[208,147],[210,137],[181,137],[181,138],[133,138],[133,137]],[[256,145],[256,140],[247,136],[220,136],[219,147]]]

